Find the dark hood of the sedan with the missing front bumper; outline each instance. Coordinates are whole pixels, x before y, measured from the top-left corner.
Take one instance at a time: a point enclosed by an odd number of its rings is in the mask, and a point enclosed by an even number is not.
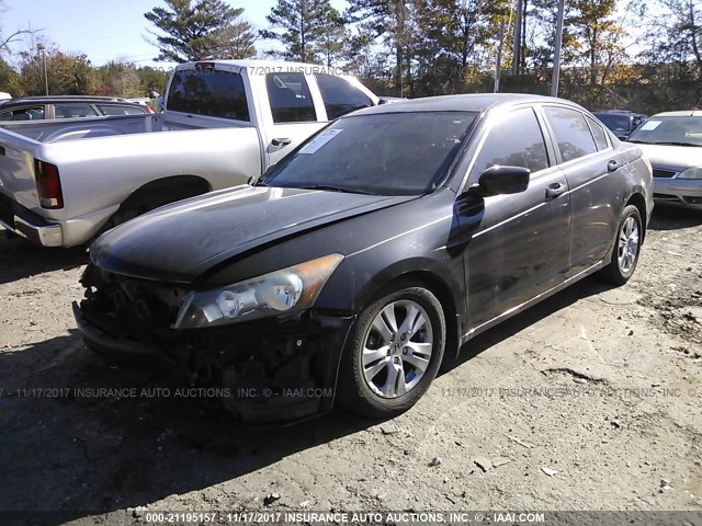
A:
[[[191,283],[213,266],[264,245],[414,196],[245,186],[193,197],[125,222],[90,248],[99,267]]]

